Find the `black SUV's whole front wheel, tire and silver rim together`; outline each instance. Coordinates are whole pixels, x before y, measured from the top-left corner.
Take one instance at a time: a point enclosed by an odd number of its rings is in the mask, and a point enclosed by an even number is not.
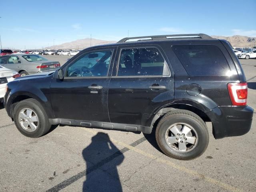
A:
[[[32,111],[30,120],[27,119],[28,122],[30,122],[30,124],[31,124],[31,121],[34,121],[33,119],[35,119],[35,116],[36,116],[37,123],[35,121],[35,122],[33,122],[34,125],[32,124],[31,127],[29,124],[29,126],[27,128],[24,128],[24,127],[26,127],[26,125],[25,125],[26,120],[22,119],[22,118],[24,116],[26,116],[26,118],[28,117],[28,114],[29,114],[28,110]],[[21,113],[23,113],[25,115],[20,115]],[[18,130],[24,136],[27,136],[27,137],[38,138],[38,137],[46,134],[51,128],[51,124],[48,120],[46,112],[44,111],[44,108],[37,100],[32,99],[32,98],[18,102],[18,104],[14,108],[13,118],[14,118],[14,123],[15,123],[16,127],[18,128]],[[33,126],[36,126],[36,128],[34,128],[34,130],[32,128]]]

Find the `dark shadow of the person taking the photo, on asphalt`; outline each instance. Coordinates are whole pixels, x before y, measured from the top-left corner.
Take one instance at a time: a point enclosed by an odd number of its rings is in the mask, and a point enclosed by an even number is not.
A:
[[[108,134],[98,132],[93,136],[91,144],[84,148],[82,155],[87,167],[83,192],[122,192],[117,166],[123,162],[124,155],[110,141]],[[110,172],[99,169],[110,161]]]

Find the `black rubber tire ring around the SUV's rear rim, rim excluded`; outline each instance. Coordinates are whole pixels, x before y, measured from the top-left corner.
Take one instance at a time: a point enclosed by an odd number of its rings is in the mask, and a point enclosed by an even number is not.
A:
[[[198,135],[198,142],[196,147],[189,152],[176,152],[168,146],[165,140],[166,130],[175,123],[184,123],[192,126]],[[174,115],[170,118],[166,118],[163,122],[159,122],[158,129],[156,130],[156,137],[159,141],[159,147],[164,153],[169,156],[182,160],[190,160],[200,156],[207,148],[209,142],[209,134],[206,127],[202,126],[199,122],[190,118],[189,116]]]

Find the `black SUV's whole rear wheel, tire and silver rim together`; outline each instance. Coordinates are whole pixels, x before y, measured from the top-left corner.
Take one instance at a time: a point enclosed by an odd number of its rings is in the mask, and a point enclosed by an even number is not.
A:
[[[190,131],[183,135],[186,130]],[[173,110],[158,122],[156,141],[167,156],[179,160],[191,160],[204,153],[209,143],[209,134],[205,122],[198,115],[188,110]]]

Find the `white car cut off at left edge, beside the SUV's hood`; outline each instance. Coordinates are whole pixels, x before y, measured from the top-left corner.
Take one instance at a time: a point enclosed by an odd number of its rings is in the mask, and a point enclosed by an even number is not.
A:
[[[20,77],[20,74],[14,70],[0,66],[0,102],[4,101],[6,84]]]

